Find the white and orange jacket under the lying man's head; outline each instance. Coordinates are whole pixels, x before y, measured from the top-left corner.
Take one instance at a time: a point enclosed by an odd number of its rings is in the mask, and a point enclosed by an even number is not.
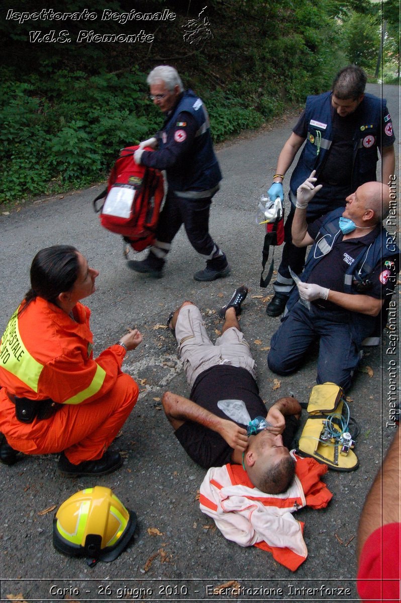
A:
[[[295,478],[282,494],[265,494],[255,488],[241,465],[212,467],[200,487],[200,509],[215,521],[228,539],[241,546],[270,551],[276,561],[294,571],[308,551],[303,522],[292,513],[308,505],[323,508],[332,494],[320,476],[327,466],[313,458],[294,455]]]

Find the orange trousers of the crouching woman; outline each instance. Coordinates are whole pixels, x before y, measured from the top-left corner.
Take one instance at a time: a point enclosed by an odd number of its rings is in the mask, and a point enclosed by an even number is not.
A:
[[[136,404],[139,389],[125,373],[112,390],[94,402],[65,404],[52,417],[26,425],[17,420],[15,406],[0,390],[0,432],[8,444],[25,454],[65,451],[73,464],[103,456]]]

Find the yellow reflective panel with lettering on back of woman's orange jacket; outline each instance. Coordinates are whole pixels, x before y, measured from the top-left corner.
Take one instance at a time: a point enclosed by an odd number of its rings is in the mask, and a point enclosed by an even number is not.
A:
[[[37,392],[43,364],[24,346],[18,328],[18,310],[11,316],[1,339],[0,366]]]

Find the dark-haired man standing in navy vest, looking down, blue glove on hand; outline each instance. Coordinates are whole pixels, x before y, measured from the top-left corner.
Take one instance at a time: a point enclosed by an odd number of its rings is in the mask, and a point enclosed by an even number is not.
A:
[[[268,195],[284,200],[283,179],[295,155],[306,140],[289,183],[291,210],[285,224],[285,244],[274,297],[268,304],[269,316],[282,314],[294,286],[288,267],[302,272],[305,248],[291,242],[297,189],[315,169],[317,184],[323,185],[308,206],[306,220],[314,221],[325,213],[344,207],[346,197],[365,182],[376,180],[377,149],[382,157],[382,183],[394,174],[394,134],[385,99],[365,94],[366,75],[350,65],[333,81],[332,92],[308,96],[306,107],[280,153],[276,174]]]

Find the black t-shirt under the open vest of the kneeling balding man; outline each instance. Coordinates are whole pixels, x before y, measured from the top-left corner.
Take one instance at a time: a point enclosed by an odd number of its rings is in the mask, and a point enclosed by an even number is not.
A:
[[[315,240],[317,239],[323,219],[324,217],[319,218],[308,225],[308,234]],[[333,291],[344,292],[344,275],[347,270],[349,270],[349,267],[355,262],[356,258],[364,250],[366,252],[368,251],[369,245],[376,239],[379,231],[380,226],[377,226],[365,236],[346,239],[346,241],[343,241],[343,233],[340,232],[339,235],[336,236],[332,250],[321,258],[320,262],[318,262],[311,274],[309,274],[306,282],[315,283],[316,285],[332,289]],[[320,257],[321,255],[321,251],[318,247],[314,248],[314,253],[317,257]],[[387,292],[387,285],[386,283],[382,283],[383,278],[380,280],[380,275],[384,270],[384,261],[378,262],[368,277],[366,288],[361,292],[376,299],[384,298]],[[338,312],[348,312],[331,301],[317,300],[312,303],[315,303],[321,308]]]

